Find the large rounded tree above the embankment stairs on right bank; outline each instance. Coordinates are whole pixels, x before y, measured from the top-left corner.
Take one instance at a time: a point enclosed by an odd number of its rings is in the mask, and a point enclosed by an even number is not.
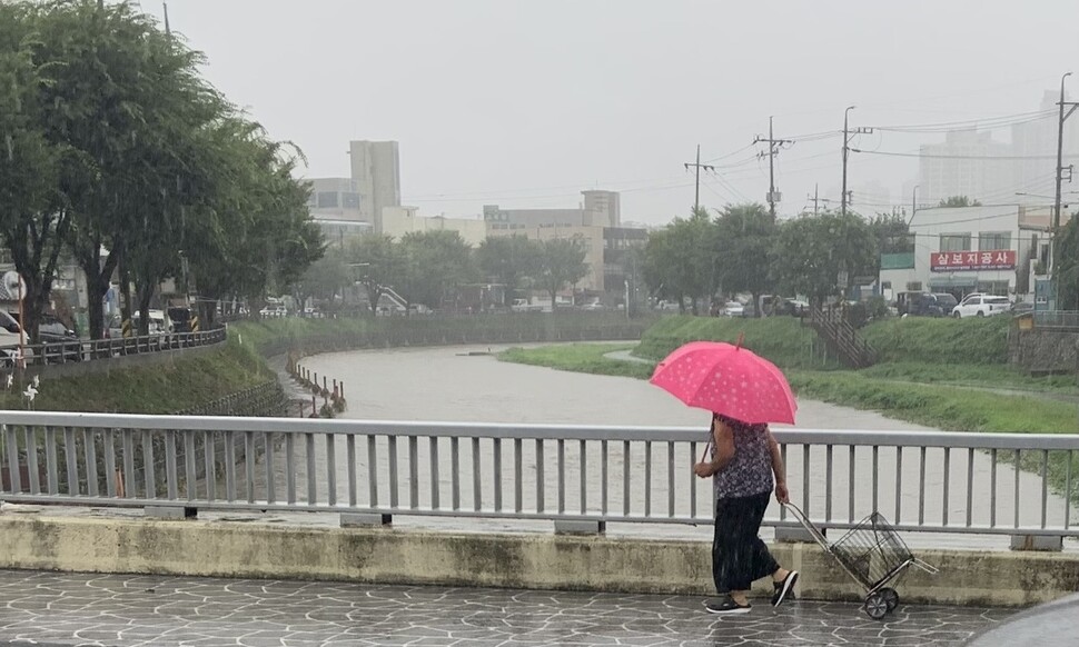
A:
[[[850,277],[872,270],[877,241],[857,213],[825,211],[784,222],[775,248],[778,278],[813,305],[843,293]],[[847,282],[842,278],[847,277]]]

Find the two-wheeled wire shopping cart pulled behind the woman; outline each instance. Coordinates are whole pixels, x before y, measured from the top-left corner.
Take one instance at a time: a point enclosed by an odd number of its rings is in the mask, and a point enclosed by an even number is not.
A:
[[[937,575],[937,567],[914,557],[907,544],[880,512],[862,519],[838,541],[828,543],[824,534],[793,504],[783,504],[791,515],[831,554],[854,580],[865,588],[865,613],[880,620],[899,606],[899,594],[888,586],[897,583],[911,566]]]

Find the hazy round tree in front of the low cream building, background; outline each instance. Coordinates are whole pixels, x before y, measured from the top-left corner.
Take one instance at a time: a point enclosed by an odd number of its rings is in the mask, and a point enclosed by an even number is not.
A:
[[[407,262],[395,287],[409,303],[439,308],[452,290],[476,277],[472,247],[457,231],[409,232],[400,248]]]

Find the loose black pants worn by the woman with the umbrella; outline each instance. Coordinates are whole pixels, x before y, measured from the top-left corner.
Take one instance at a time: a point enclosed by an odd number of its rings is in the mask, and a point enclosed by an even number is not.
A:
[[[753,580],[780,567],[758,536],[771,492],[715,501],[712,578],[720,594],[749,590]]]

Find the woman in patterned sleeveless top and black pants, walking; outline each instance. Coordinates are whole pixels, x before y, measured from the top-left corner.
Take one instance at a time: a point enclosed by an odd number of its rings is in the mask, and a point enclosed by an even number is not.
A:
[[[782,568],[758,535],[773,485],[778,501],[789,497],[779,444],[768,425],[720,414],[712,415],[709,442],[711,460],[693,467],[699,477],[712,477],[715,488],[712,578],[720,599],[705,608],[712,614],[748,613],[752,583],[766,576],[772,577],[773,607],[794,599],[798,571]]]

